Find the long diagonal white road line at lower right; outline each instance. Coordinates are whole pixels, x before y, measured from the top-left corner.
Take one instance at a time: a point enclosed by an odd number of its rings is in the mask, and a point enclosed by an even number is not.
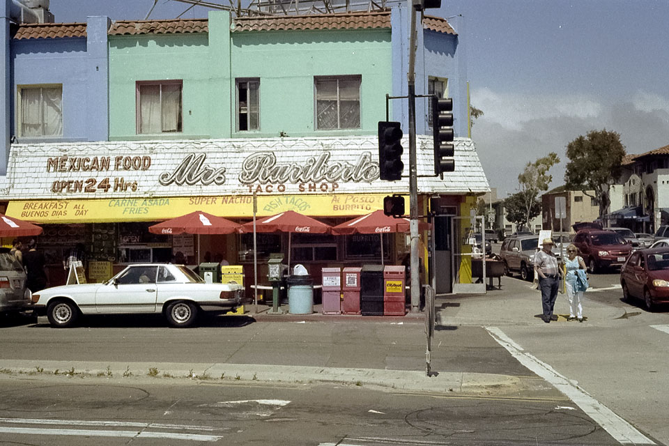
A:
[[[486,327],[493,339],[506,348],[521,364],[535,372],[535,374],[551,383],[571,401],[576,403],[583,412],[594,422],[597,422],[610,436],[623,445],[654,445],[655,443],[634,429],[634,427],[613,413],[608,407],[591,397],[584,390],[580,390],[568,378],[557,373],[553,367],[516,348],[516,343],[497,327]]]

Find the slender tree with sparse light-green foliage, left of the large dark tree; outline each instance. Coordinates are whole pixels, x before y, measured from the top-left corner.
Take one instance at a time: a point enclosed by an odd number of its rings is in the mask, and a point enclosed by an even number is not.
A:
[[[525,217],[521,219],[523,222],[527,223],[541,213],[539,194],[548,190],[548,186],[551,185],[553,176],[548,174],[548,171],[558,162],[560,158],[557,157],[557,153],[551,152],[535,162],[528,162],[523,173],[518,175],[519,194],[515,194],[517,197],[514,200],[522,200],[522,208],[525,210]],[[509,217],[507,220],[514,221]]]

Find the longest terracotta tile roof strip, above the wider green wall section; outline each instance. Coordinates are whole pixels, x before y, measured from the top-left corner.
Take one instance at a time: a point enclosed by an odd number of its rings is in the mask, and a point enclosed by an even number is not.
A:
[[[390,10],[370,13],[238,17],[233,21],[232,31],[364,28],[390,28]]]

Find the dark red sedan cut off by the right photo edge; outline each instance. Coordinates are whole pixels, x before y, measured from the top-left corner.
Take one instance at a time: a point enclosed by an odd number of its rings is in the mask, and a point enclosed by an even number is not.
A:
[[[620,284],[627,302],[641,298],[648,311],[669,303],[669,247],[633,252],[620,268]]]

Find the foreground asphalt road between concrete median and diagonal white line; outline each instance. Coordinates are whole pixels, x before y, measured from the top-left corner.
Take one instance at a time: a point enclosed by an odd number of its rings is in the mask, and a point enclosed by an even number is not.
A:
[[[559,392],[0,378],[0,445],[616,445]]]

